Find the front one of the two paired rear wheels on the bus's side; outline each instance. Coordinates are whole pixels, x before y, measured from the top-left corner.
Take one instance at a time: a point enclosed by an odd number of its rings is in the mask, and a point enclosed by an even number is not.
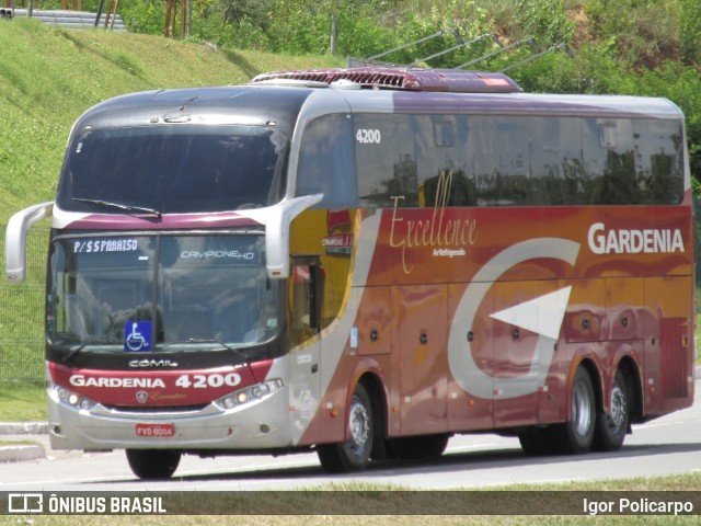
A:
[[[579,367],[572,384],[572,419],[560,427],[563,453],[587,453],[594,442],[596,427],[596,397],[591,377]]]

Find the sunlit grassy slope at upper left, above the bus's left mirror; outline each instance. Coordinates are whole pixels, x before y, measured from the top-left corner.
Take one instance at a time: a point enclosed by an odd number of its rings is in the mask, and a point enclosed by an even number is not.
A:
[[[0,21],[0,225],[51,201],[73,121],[122,93],[248,81],[262,71],[332,66],[330,57],[215,50],[202,44]],[[338,60],[338,59],[335,59]]]

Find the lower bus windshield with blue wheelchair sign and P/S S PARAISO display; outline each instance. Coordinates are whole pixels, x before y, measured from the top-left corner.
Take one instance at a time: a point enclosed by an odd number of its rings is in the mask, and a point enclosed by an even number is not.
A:
[[[277,282],[257,235],[61,237],[47,288],[49,344],[71,351],[200,351],[274,338]]]

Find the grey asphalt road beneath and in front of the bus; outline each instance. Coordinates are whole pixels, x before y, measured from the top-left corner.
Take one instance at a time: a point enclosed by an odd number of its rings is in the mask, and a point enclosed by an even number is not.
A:
[[[697,392],[700,388],[697,380]],[[31,439],[45,444],[46,458],[0,465],[0,492],[268,491],[356,482],[440,490],[688,473],[701,470],[700,398],[692,408],[634,426],[624,446],[612,454],[527,457],[516,438],[464,435],[453,437],[439,459],[377,462],[352,476],[324,473],[313,454],[186,456],[173,479],[141,481],[131,473],[124,451],[53,451],[45,435],[32,435]]]

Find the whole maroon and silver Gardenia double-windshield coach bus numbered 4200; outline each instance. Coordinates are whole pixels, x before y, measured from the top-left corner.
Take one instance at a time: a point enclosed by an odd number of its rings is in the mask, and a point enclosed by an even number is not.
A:
[[[88,110],[50,216],[50,444],[317,451],[331,472],[456,434],[616,450],[693,398],[694,227],[667,100],[499,73],[264,73]]]

